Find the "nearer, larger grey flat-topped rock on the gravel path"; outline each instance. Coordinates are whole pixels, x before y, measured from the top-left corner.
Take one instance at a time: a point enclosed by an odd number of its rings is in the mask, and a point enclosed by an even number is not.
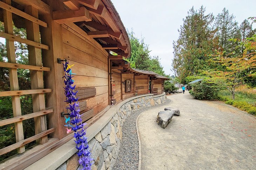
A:
[[[171,118],[173,118],[174,113],[175,112],[171,110],[160,111],[156,118],[157,124],[162,128],[166,128],[168,123],[171,121]]]

